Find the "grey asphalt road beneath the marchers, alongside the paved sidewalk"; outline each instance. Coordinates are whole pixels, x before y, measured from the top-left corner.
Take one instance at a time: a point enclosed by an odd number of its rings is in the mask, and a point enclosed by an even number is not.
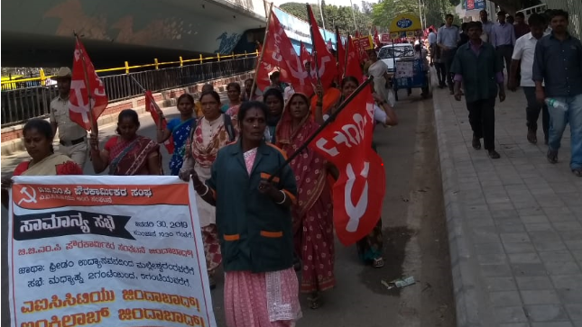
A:
[[[431,100],[420,100],[419,90],[411,97],[401,91],[396,106],[400,124],[376,129],[374,140],[386,169],[386,195],[383,199],[383,268],[364,266],[356,248],[336,244],[337,287],[323,294],[324,305],[309,310],[301,295],[303,318],[298,326],[335,327],[453,327],[455,309],[452,295],[447,228],[440,183],[439,154],[434,131]],[[167,111],[173,118],[177,110]],[[155,137],[149,116],[140,117],[139,133]],[[103,127],[105,140],[114,135],[115,125]],[[170,156],[163,153],[164,169]],[[2,175],[9,174],[25,154],[2,158]],[[90,162],[86,174],[93,174]],[[2,216],[5,217],[3,209]],[[5,275],[6,220],[2,219],[2,288]],[[217,274],[217,289],[212,291],[218,326],[225,326],[223,279]],[[413,276],[417,283],[388,290],[382,281]],[[6,318],[7,298],[3,292],[2,315]]]

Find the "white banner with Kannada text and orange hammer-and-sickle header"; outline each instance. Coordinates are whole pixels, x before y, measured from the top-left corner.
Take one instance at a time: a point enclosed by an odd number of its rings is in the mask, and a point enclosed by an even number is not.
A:
[[[12,326],[214,327],[191,183],[14,177]]]

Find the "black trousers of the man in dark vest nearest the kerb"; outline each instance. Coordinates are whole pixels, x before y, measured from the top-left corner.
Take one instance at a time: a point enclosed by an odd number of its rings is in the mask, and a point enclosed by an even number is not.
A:
[[[495,98],[467,102],[473,136],[483,138],[485,150],[495,150]]]

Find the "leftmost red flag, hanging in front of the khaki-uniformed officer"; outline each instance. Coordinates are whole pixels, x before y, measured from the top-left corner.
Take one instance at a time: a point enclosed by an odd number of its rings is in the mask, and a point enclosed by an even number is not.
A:
[[[83,43],[77,38],[73,55],[73,73],[70,80],[69,117],[87,131],[91,130],[93,121],[105,111],[109,102],[105,94],[105,86],[101,78],[97,76],[93,63],[83,47]],[[91,102],[89,104],[89,99]]]

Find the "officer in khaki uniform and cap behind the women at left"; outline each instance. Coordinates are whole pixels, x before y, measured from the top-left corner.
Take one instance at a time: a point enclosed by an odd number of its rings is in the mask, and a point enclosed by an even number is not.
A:
[[[68,67],[62,67],[57,75],[52,77],[57,81],[59,96],[51,101],[51,126],[52,134],[59,130],[59,152],[73,161],[82,169],[87,159],[87,131],[74,123],[69,117],[69,94],[71,71]]]

